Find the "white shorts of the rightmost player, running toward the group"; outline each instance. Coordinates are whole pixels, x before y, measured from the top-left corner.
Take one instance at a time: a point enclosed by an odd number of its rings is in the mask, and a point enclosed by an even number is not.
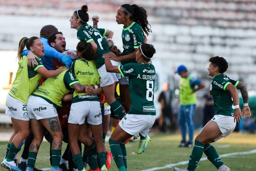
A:
[[[225,116],[225,115],[214,115],[214,117],[211,119],[215,123],[217,123],[221,134],[221,137],[218,137],[214,139],[215,141],[219,140],[220,138],[228,136],[231,134],[235,127],[236,127],[236,122],[234,122],[234,117],[230,116]]]

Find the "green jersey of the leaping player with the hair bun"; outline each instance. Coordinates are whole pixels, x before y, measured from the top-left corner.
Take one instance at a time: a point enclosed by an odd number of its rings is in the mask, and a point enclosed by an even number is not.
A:
[[[102,36],[105,36],[106,32],[106,29],[96,28],[86,23],[80,26],[76,33],[77,39],[84,40],[87,43],[93,40],[96,43],[97,52],[95,54],[95,64],[97,68],[100,68],[102,65],[105,64],[105,56],[101,45],[101,41]]]

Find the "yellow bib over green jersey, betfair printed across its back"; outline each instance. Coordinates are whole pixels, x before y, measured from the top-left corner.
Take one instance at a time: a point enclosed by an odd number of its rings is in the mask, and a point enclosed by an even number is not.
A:
[[[100,84],[100,76],[95,66],[95,61],[87,61],[85,59],[74,60],[71,65],[71,71],[82,85],[98,85]],[[92,95],[82,92],[73,93],[72,103],[80,101],[100,101],[99,95]]]

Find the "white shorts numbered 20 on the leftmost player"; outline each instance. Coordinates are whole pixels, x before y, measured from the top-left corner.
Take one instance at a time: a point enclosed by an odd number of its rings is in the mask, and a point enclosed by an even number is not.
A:
[[[14,119],[29,120],[26,104],[9,94],[6,97],[5,114]]]

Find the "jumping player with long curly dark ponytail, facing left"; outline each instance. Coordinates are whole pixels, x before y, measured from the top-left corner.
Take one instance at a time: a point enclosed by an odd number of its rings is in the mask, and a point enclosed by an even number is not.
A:
[[[146,35],[151,31],[150,24],[147,19],[147,12],[144,8],[138,5],[123,4],[117,9],[116,15],[117,24],[123,24],[122,41],[123,52],[119,53],[117,48],[114,49],[114,54],[110,54],[110,58],[114,61],[121,61],[121,64],[137,63],[136,51],[139,45],[146,43]],[[144,31],[144,32],[143,32]],[[144,40],[145,39],[145,40]],[[120,97],[126,111],[130,110],[131,99],[128,89],[128,78],[122,77],[119,80]],[[116,95],[118,96],[118,95]]]

